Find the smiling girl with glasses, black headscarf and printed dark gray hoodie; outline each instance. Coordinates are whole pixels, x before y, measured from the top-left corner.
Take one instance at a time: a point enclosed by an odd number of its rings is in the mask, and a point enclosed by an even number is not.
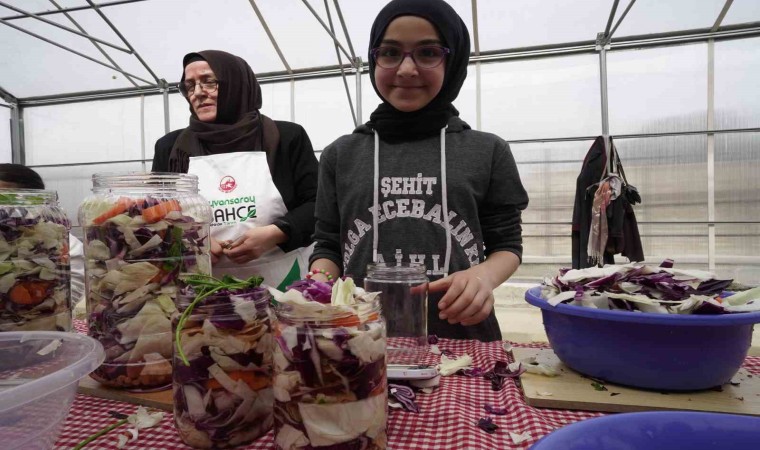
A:
[[[469,32],[443,0],[394,0],[370,34],[370,121],[320,159],[311,269],[422,263],[434,280],[428,333],[501,339],[493,289],[522,255],[528,196],[509,145],[474,131],[452,102],[467,76]]]

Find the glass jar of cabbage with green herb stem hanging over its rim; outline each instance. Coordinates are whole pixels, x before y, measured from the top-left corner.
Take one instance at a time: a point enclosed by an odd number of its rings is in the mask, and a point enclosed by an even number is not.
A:
[[[178,298],[185,311],[195,295]],[[209,295],[174,330],[174,423],[194,448],[245,445],[272,428],[271,295],[265,288]],[[181,352],[180,352],[181,350]]]

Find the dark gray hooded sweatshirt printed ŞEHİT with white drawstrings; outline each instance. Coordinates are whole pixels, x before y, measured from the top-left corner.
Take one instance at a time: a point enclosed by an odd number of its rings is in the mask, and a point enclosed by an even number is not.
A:
[[[436,280],[495,251],[521,258],[527,205],[509,145],[458,117],[449,120],[445,137],[394,144],[360,126],[320,158],[311,260],[330,259],[359,286],[373,260],[422,263]],[[440,297],[429,296],[429,334],[501,339],[493,313],[470,327],[439,320]]]

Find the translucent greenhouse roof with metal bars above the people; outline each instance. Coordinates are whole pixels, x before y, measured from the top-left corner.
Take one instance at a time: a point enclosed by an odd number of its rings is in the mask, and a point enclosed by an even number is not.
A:
[[[0,0],[0,98],[32,105],[157,92],[179,80],[184,54],[209,48],[242,56],[264,82],[336,75],[366,60],[369,28],[385,3]],[[449,3],[467,23],[474,61],[592,52],[600,32],[613,47],[760,34],[756,0]]]

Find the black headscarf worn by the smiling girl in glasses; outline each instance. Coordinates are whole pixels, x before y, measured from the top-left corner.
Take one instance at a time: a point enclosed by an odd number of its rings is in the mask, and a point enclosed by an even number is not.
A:
[[[377,130],[383,139],[390,141],[414,140],[436,134],[446,126],[449,118],[459,115],[451,102],[457,98],[464,84],[470,59],[470,34],[467,26],[448,3],[443,0],[393,0],[378,13],[370,32],[369,76],[380,98],[383,96],[375,84],[372,49],[380,45],[388,25],[399,16],[417,16],[432,23],[442,37],[443,45],[451,49],[451,53],[446,57],[441,91],[424,108],[402,112],[383,99],[383,103],[370,115],[367,125]]]

